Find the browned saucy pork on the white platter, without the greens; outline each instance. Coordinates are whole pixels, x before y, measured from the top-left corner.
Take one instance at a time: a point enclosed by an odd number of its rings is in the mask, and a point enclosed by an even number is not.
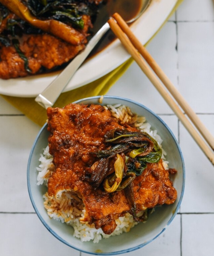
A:
[[[9,16],[12,17],[11,14]],[[0,32],[4,29],[6,20],[1,24]],[[20,50],[28,59],[28,67],[31,74],[36,74],[41,69],[50,70],[67,63],[85,48],[88,28],[91,27],[89,16],[83,15],[84,28],[81,34],[85,38],[79,45],[72,45],[50,34],[38,34],[23,36],[20,40]],[[13,46],[0,47],[0,78],[9,79],[25,77],[29,75],[24,67],[24,61],[20,58]]]

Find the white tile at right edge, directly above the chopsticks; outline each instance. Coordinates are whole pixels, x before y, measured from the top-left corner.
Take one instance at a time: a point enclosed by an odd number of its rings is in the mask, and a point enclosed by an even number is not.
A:
[[[213,37],[214,22],[178,23],[179,88],[199,113],[214,112]]]

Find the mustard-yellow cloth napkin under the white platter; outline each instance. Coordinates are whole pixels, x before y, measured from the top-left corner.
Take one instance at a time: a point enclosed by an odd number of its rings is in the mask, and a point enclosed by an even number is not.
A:
[[[172,12],[168,16],[168,18],[174,13],[176,8],[183,0],[178,0]],[[166,21],[168,20],[166,19]],[[165,21],[165,22],[166,22]],[[164,24],[165,24],[164,22]],[[163,24],[163,25],[164,25]],[[162,25],[162,26],[163,26]],[[160,29],[159,29],[160,30]],[[158,32],[158,31],[157,31]],[[155,35],[154,35],[155,36]],[[151,40],[151,39],[150,39]],[[148,43],[147,43],[148,44]],[[123,63],[121,66],[110,72],[109,74],[93,81],[89,84],[86,84],[80,88],[73,89],[69,92],[62,93],[54,106],[63,107],[68,103],[76,101],[81,98],[104,95],[108,92],[111,86],[124,74],[124,72],[129,68],[132,64],[133,59],[130,58],[128,61]],[[19,109],[22,113],[24,113],[27,117],[29,117],[32,121],[42,126],[46,121],[46,109],[41,107],[38,103],[34,101],[33,98],[21,98],[21,97],[12,97],[1,95],[5,100],[7,100],[11,105]]]

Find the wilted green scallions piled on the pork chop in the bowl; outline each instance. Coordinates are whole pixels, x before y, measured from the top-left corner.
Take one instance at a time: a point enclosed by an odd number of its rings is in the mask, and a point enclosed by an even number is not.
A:
[[[142,174],[147,163],[157,163],[161,159],[162,150],[158,143],[145,132],[129,132],[126,129],[113,129],[104,136],[104,142],[109,144],[106,150],[93,154],[101,158],[95,169],[86,170],[85,179],[97,185],[103,184],[106,192],[112,193],[124,189],[126,198],[131,208],[133,218],[137,222],[148,219],[152,209],[146,209],[140,217],[136,214],[133,181]],[[114,170],[109,170],[109,163],[114,163]]]

